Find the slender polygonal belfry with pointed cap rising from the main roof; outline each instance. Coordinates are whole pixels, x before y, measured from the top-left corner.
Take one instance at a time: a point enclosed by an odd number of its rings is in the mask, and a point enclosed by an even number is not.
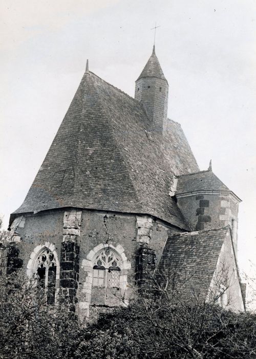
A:
[[[155,45],[135,84],[135,99],[143,105],[151,130],[163,133],[167,125],[169,86],[156,56]]]

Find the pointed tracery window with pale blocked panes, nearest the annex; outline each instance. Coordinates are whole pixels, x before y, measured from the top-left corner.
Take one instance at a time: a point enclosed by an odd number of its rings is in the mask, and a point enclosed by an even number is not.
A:
[[[95,258],[93,286],[119,288],[120,260],[110,248],[103,249]]]

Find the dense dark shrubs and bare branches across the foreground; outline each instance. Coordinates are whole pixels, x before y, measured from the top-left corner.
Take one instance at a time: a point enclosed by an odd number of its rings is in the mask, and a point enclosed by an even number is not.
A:
[[[1,278],[3,359],[253,358],[256,315],[160,291],[127,308],[79,323],[66,302],[47,306],[44,290],[18,272]]]

